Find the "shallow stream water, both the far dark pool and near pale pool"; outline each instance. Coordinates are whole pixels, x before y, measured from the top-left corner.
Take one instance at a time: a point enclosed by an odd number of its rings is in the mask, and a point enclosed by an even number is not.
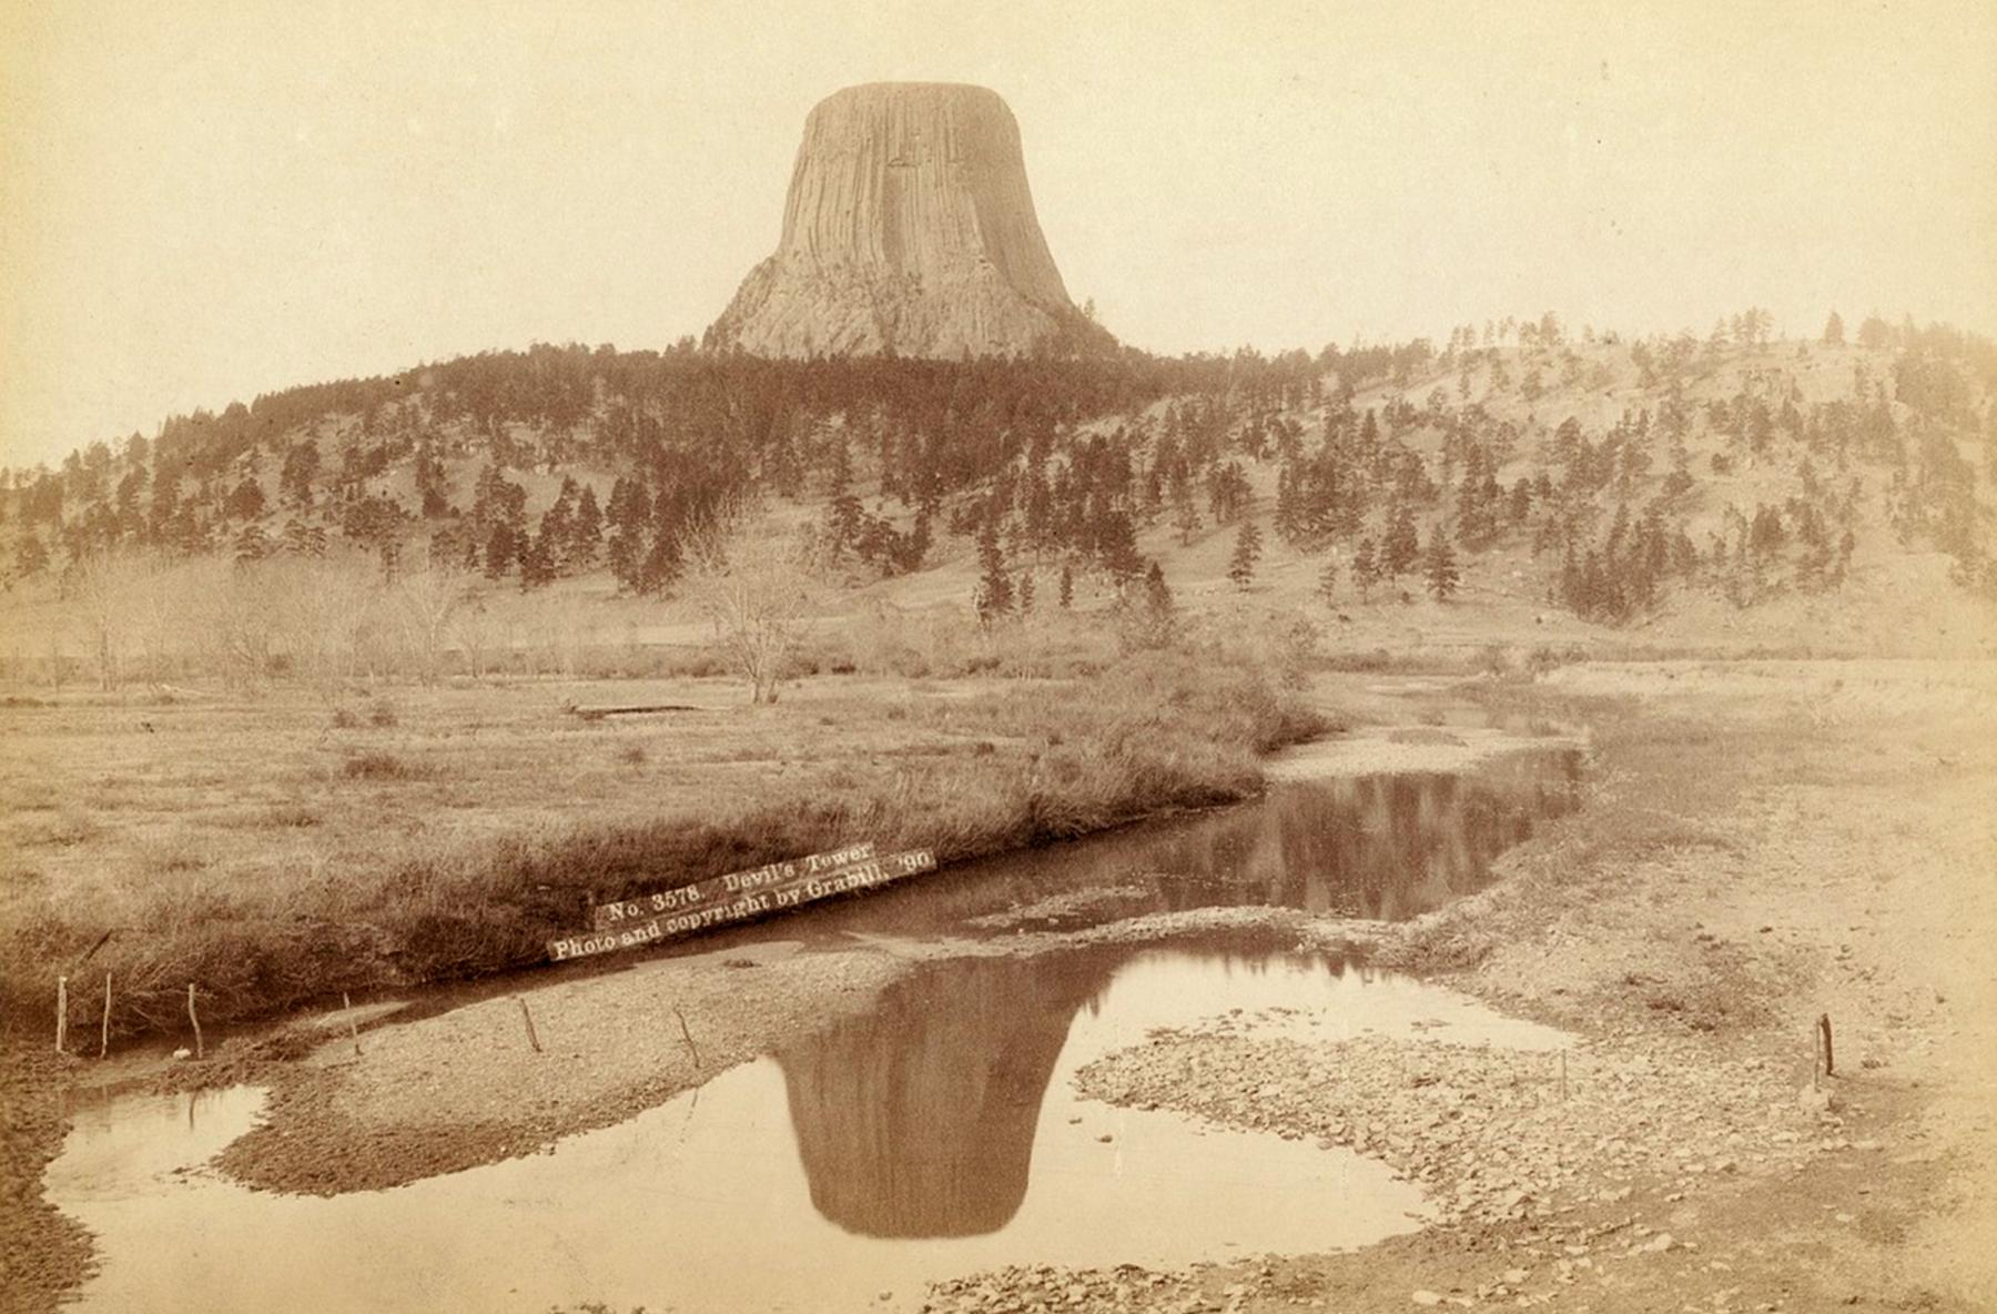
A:
[[[1554,751],[1288,785],[761,939],[1004,935],[1242,903],[1410,917],[1570,811],[1576,773]],[[385,1192],[248,1192],[202,1168],[258,1116],[262,1092],[234,1088],[82,1104],[46,1186],[98,1236],[90,1310],[903,1308],[929,1280],[1000,1264],[1174,1266],[1420,1226],[1420,1192],[1376,1160],[1072,1092],[1092,1058],[1234,1010],[1298,1036],[1564,1042],[1440,986],[1240,939],[983,955],[925,965],[869,1012],[545,1154]]]

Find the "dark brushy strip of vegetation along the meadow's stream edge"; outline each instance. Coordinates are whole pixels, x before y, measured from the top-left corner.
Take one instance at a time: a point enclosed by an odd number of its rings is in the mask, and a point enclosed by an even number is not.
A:
[[[747,777],[753,787],[703,799],[673,791],[643,821],[509,827],[413,853],[383,835],[379,863],[312,883],[286,881],[272,851],[226,887],[210,883],[194,897],[132,891],[132,903],[116,907],[64,903],[36,881],[40,899],[20,899],[8,919],[8,1028],[40,1034],[52,1024],[58,975],[72,979],[74,1050],[76,1036],[96,1030],[106,971],[116,985],[112,1030],[146,1034],[186,1030],[188,983],[200,990],[204,1024],[228,1024],[341,990],[527,969],[545,959],[549,937],[583,925],[595,899],[863,839],[883,851],[933,849],[949,865],[1232,803],[1262,789],[1260,755],[1326,731],[1298,681],[1240,653],[1184,651],[1140,651],[1062,681],[891,699],[807,695],[795,707],[727,715],[745,731],[775,731],[775,747],[745,745],[737,759],[759,767]],[[785,747],[807,719],[853,743],[881,727],[947,739],[861,749],[831,775],[793,773],[799,763]],[[575,745],[553,739],[543,751],[559,757]],[[629,747],[617,753],[633,759]],[[347,761],[397,769],[333,769],[330,787],[441,787],[437,769],[389,753]],[[268,825],[300,831],[316,817],[306,801],[272,809]],[[256,879],[260,867],[266,881]]]

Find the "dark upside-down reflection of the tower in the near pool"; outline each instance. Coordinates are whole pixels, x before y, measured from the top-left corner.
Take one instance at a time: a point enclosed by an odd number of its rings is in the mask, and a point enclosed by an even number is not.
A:
[[[779,1054],[813,1206],[863,1236],[1002,1228],[1068,1022],[1124,955],[953,963]]]

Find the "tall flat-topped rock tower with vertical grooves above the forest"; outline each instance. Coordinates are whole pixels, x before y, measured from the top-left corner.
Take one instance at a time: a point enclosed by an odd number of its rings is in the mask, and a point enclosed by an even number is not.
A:
[[[707,333],[757,355],[1100,347],[1068,300],[997,92],[875,82],[819,102],[783,240]]]

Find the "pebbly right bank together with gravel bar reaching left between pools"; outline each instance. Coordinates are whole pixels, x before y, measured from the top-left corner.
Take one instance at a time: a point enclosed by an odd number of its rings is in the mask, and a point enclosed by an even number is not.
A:
[[[1667,667],[1488,683],[1502,717],[1592,727],[1590,801],[1436,915],[1212,909],[561,969],[527,994],[533,1040],[519,1002],[491,994],[363,1030],[359,1058],[349,1042],[224,1054],[220,1076],[274,1084],[270,1126],[224,1168],[335,1192],[529,1154],[865,1010],[935,957],[1224,927],[1364,945],[1376,965],[1560,1024],[1580,1036],[1566,1088],[1546,1054],[1466,1050],[1448,1030],[1314,1046],[1246,1016],[1156,1036],[1090,1068],[1088,1094],[1362,1148],[1444,1222],[1360,1254],[975,1274],[935,1288],[933,1308],[1981,1308],[1997,1288],[1969,1238],[1997,1192],[1961,1172],[1993,1146],[1979,1060],[1997,1000],[1977,937],[1997,899],[1965,879],[1997,869],[1997,747],[1979,733],[1997,691],[1981,677],[1721,663],[1689,685]],[[1382,735],[1352,739],[1364,755]],[[1803,1092],[1819,1012],[1837,1026],[1827,1102]]]

